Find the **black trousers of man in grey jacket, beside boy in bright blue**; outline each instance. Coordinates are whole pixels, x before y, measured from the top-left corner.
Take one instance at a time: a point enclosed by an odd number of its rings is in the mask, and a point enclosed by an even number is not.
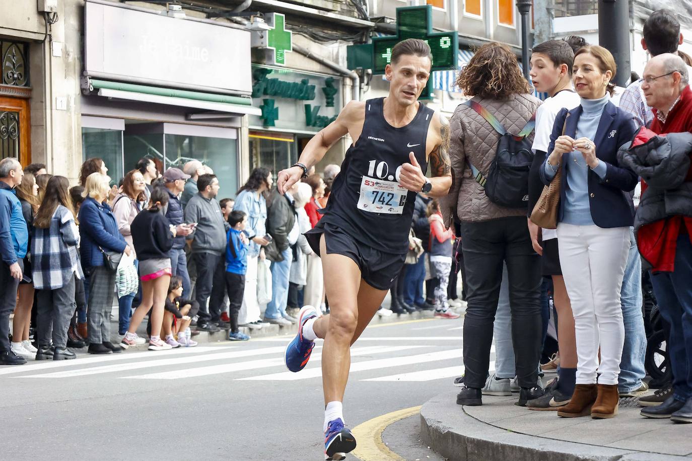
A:
[[[197,267],[197,283],[194,288],[194,300],[199,303],[197,323],[203,325],[219,321],[226,288],[224,280],[226,260],[224,256],[213,253],[193,253],[192,258]],[[209,308],[207,308],[207,300],[209,300]]]

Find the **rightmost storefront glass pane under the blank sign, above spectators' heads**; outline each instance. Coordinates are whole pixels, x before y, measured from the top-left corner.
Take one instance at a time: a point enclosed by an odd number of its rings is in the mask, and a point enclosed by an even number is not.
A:
[[[219,200],[235,197],[238,191],[237,141],[189,135],[165,135],[165,167],[181,168],[185,162],[199,160],[219,178]]]

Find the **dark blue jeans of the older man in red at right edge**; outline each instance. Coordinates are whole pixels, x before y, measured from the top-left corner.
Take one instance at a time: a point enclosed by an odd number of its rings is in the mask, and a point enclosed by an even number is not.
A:
[[[675,270],[655,272],[651,283],[661,315],[671,326],[668,358],[673,369],[673,395],[686,401],[692,397],[692,243],[686,232],[677,237]]]

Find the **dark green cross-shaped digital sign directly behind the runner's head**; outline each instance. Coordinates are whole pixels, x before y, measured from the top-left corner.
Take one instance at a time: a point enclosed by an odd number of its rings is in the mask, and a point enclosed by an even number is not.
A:
[[[432,52],[432,70],[457,68],[457,32],[432,32],[432,6],[425,5],[397,8],[397,35],[372,38],[372,72],[383,74],[392,59],[394,45],[406,39],[426,41]]]

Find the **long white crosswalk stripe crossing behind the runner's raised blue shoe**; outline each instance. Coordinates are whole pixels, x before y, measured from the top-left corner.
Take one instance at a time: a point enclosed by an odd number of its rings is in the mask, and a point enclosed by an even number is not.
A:
[[[406,350],[406,349],[411,349],[411,348],[419,348],[423,346],[394,346],[394,347],[385,347],[385,346],[367,346],[363,348],[353,348],[351,350],[351,356],[352,357],[358,357],[359,355],[368,355],[368,354],[377,354],[380,352],[396,352],[398,350]],[[273,349],[273,348],[271,348]],[[282,348],[283,352],[283,348]],[[316,354],[313,352],[313,356],[310,357],[310,363],[315,363],[318,362],[322,359],[320,354]],[[203,366],[199,368],[189,368],[188,370],[181,370],[176,373],[170,373],[170,372],[165,372],[165,373],[150,373],[148,375],[140,375],[140,376],[125,376],[123,378],[131,378],[131,379],[180,379],[180,378],[189,378],[189,377],[198,377],[198,376],[207,376],[207,375],[217,375],[219,373],[230,373],[233,371],[242,371],[242,370],[257,370],[260,368],[268,368],[271,366],[283,366],[284,365],[284,359],[283,358],[277,358],[277,359],[264,359],[264,360],[253,360],[253,361],[242,361],[239,363],[235,364],[221,364],[221,365],[212,365],[212,366]],[[291,372],[286,372],[286,373],[291,373]]]

